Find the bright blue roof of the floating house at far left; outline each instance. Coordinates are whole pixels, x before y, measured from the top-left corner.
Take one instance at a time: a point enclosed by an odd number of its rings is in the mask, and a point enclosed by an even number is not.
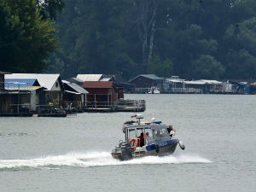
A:
[[[39,85],[37,79],[4,79],[5,87],[19,88]]]

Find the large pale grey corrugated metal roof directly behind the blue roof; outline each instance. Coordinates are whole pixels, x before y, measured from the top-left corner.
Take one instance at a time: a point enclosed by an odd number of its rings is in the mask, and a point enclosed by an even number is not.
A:
[[[37,74],[37,73],[12,73],[5,74],[5,79],[38,79],[38,83],[51,90],[55,81],[60,78],[60,74]]]

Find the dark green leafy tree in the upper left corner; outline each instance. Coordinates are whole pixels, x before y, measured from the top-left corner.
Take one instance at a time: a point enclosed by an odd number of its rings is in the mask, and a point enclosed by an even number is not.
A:
[[[1,70],[42,72],[56,48],[54,23],[39,15],[35,0],[0,0]]]

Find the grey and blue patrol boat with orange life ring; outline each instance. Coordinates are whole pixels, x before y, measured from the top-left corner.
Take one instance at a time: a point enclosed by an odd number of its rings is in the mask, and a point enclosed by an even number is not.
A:
[[[174,138],[175,131],[169,133],[168,126],[161,121],[154,121],[152,118],[150,122],[142,122],[142,114],[131,117],[136,120],[124,123],[122,130],[125,140],[120,140],[112,149],[113,158],[131,160],[137,157],[173,154],[177,143],[180,148],[185,149],[183,142]],[[140,135],[141,137],[138,137]]]

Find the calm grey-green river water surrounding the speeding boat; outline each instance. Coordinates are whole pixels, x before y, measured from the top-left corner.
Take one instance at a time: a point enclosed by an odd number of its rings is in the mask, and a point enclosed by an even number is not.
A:
[[[176,129],[174,154],[113,160],[134,113],[0,118],[0,191],[256,191],[256,96],[125,95]]]

